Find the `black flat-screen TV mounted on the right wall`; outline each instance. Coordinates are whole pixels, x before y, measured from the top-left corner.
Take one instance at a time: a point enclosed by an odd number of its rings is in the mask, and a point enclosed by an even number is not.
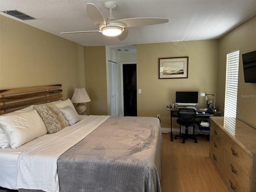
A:
[[[244,82],[256,83],[256,51],[242,54],[244,67]]]

